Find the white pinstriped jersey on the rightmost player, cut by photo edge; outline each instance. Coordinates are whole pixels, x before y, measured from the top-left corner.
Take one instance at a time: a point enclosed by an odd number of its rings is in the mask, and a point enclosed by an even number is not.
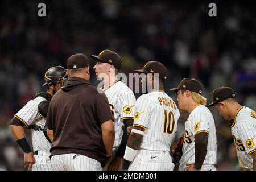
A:
[[[249,107],[241,107],[236,115],[231,132],[236,144],[240,167],[253,169],[253,152],[256,151],[256,114]]]

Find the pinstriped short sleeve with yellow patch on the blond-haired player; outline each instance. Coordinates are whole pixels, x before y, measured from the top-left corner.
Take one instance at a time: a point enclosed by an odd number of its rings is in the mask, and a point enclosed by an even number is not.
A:
[[[196,112],[193,115],[193,130],[192,134],[197,135],[201,132],[206,132],[209,134],[210,120],[207,114],[203,112]]]

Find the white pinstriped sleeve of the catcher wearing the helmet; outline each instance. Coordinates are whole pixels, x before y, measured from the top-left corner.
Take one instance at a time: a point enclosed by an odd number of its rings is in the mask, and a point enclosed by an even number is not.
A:
[[[19,121],[23,122],[24,125],[28,127],[38,114],[38,105],[40,102],[40,100],[28,101],[27,104],[14,115],[14,117],[19,119]]]

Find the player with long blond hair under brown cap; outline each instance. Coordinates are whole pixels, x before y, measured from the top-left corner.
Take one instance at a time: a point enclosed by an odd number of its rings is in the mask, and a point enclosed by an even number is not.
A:
[[[185,122],[184,144],[179,170],[216,171],[216,131],[212,113],[205,107],[202,85],[195,78],[184,78],[177,88],[179,109],[189,113]]]

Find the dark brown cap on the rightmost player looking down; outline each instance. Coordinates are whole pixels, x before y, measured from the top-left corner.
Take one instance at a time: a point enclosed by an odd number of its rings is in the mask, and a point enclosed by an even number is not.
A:
[[[213,93],[212,93],[213,102],[210,103],[207,107],[214,106],[218,104],[218,102],[224,101],[228,98],[236,98],[236,94],[234,93],[234,90],[230,87],[220,86],[217,89],[213,90]]]

